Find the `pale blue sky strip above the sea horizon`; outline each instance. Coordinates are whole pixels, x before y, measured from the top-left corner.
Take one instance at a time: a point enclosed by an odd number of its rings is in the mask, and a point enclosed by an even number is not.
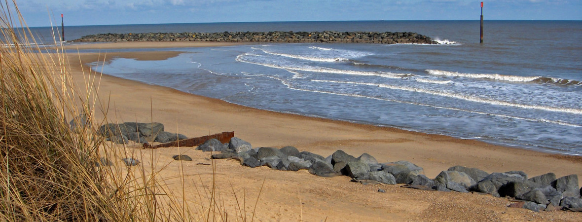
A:
[[[582,20],[582,0],[484,1],[489,20]],[[324,20],[478,20],[466,0],[17,0],[29,27]]]

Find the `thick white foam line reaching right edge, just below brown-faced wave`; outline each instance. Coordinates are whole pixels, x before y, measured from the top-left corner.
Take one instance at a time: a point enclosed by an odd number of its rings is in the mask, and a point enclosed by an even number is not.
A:
[[[510,103],[508,101],[492,100],[490,98],[481,98],[481,97],[477,97],[477,96],[462,95],[462,94],[450,93],[447,91],[418,89],[418,88],[408,87],[408,86],[393,86],[393,85],[389,85],[389,84],[379,84],[379,83],[343,82],[343,81],[334,81],[334,80],[315,80],[315,79],[311,80],[311,81],[313,81],[313,82],[344,83],[344,84],[360,84],[360,85],[364,85],[364,86],[377,86],[377,87],[382,87],[382,88],[386,88],[386,89],[416,91],[418,93],[427,93],[427,94],[432,94],[435,96],[459,98],[461,100],[472,101],[472,102],[477,102],[477,103],[487,103],[487,104],[492,104],[492,105],[505,105],[508,107],[527,108],[527,109],[544,110],[544,111],[552,111],[552,112],[566,112],[566,113],[571,113],[571,114],[582,114],[582,110],[576,109],[576,108],[560,108],[560,107],[547,107],[544,105],[528,105],[528,104]]]

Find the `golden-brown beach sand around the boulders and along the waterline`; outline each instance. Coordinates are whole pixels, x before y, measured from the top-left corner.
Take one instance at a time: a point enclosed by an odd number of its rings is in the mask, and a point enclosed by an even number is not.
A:
[[[72,45],[69,48],[173,48],[232,45],[232,43],[109,43]],[[84,86],[87,64],[116,57],[158,60],[179,55],[177,51],[109,52],[69,54],[70,71]],[[84,77],[85,76],[85,77]],[[491,172],[521,170],[529,177],[554,172],[557,177],[582,175],[582,158],[503,147],[442,135],[409,132],[394,128],[352,124],[329,119],[257,110],[197,96],[161,86],[118,77],[97,76],[101,105],[108,107],[109,122],[161,122],[165,131],[188,137],[235,131],[235,136],[253,147],[294,146],[322,156],[343,150],[353,156],[369,153],[380,163],[407,160],[424,168],[429,178],[454,165]],[[190,207],[208,205],[201,188],[212,183],[211,153],[194,147],[140,149],[125,148],[140,159],[145,169],[159,170],[173,195],[185,196]],[[176,154],[193,161],[173,161]],[[577,221],[579,213],[563,211],[535,213],[507,206],[510,199],[477,193],[420,191],[400,185],[361,185],[349,177],[323,178],[298,172],[275,171],[268,167],[248,168],[235,160],[215,160],[215,182],[219,200],[229,217],[239,214],[235,194],[242,205],[243,192],[250,219],[258,221]],[[182,176],[183,175],[183,176]],[[182,182],[183,178],[183,182]],[[204,185],[202,185],[204,183]],[[184,186],[182,186],[182,184]],[[384,189],[386,192],[378,192]],[[200,212],[198,212],[200,214]],[[240,215],[238,216],[240,217]],[[233,220],[233,219],[230,219]]]

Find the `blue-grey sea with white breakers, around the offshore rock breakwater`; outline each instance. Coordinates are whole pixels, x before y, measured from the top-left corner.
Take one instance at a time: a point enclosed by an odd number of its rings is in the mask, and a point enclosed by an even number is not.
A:
[[[48,27],[31,30],[54,41],[41,34]],[[109,75],[261,110],[582,155],[582,21],[485,20],[484,43],[479,20],[65,26],[65,37],[324,30],[410,31],[441,44],[145,49],[184,53],[164,61],[115,58],[92,65]]]

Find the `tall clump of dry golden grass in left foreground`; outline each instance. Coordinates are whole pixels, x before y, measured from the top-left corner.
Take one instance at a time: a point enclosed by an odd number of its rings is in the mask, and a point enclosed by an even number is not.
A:
[[[102,105],[93,87],[95,73],[77,87],[62,45],[55,44],[51,53],[36,46],[16,2],[5,3],[0,5],[0,221],[228,220],[215,195],[214,166],[211,188],[201,187],[198,203],[168,191],[153,157],[149,169],[119,161],[104,166],[103,160],[134,153],[104,142],[97,131],[103,122],[93,118],[95,104]],[[107,108],[101,111],[107,117]],[[246,221],[246,206],[236,202],[235,217]]]

